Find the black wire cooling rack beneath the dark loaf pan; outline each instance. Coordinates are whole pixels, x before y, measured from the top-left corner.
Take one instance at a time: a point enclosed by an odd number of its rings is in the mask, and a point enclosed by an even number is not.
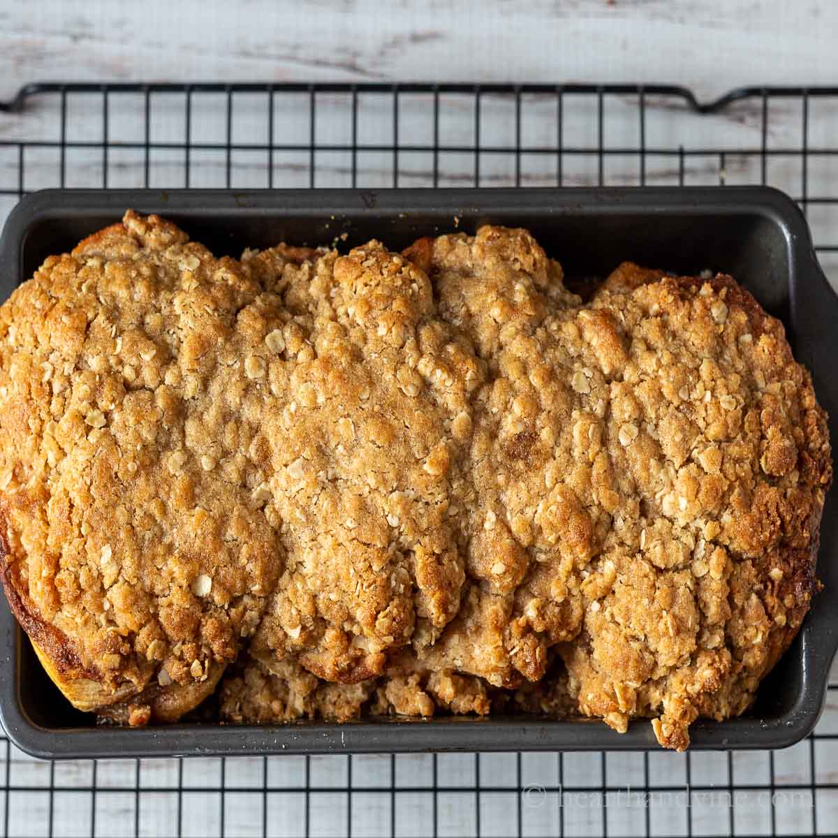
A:
[[[0,103],[0,220],[50,186],[772,184],[838,279],[838,88],[39,84]],[[0,738],[0,836],[830,835],[838,678],[778,752],[44,762]]]

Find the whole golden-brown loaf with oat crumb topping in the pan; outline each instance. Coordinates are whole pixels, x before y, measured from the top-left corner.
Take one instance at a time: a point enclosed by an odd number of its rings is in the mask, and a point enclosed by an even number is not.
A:
[[[216,258],[129,211],[0,308],[0,567],[118,722],[569,710],[683,749],[816,590],[825,413],[731,277],[525,230]],[[226,675],[225,675],[226,670]]]

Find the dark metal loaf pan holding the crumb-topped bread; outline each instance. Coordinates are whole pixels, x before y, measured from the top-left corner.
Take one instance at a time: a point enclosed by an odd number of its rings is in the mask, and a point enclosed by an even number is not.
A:
[[[773,189],[531,189],[383,191],[48,191],[18,204],[0,244],[2,298],[46,256],[118,220],[127,207],[181,225],[216,254],[278,241],[341,247],[372,237],[398,249],[417,236],[473,231],[484,222],[529,228],[568,275],[604,275],[631,259],[670,271],[729,272],[783,320],[794,354],[838,420],[838,297],[820,271],[797,206]],[[759,688],[747,716],[697,722],[693,748],[784,747],[808,734],[823,709],[838,644],[835,489],[824,515],[818,575],[825,590],[789,651]],[[3,597],[0,597],[3,598]],[[313,722],[277,727],[96,727],[41,670],[0,604],[0,718],[8,737],[43,757],[327,753],[424,750],[560,750],[658,747],[647,721],[623,735],[602,722],[542,717]]]

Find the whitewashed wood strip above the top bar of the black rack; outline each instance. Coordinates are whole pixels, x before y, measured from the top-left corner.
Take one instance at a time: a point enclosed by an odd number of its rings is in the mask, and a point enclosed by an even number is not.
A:
[[[0,95],[27,81],[670,81],[702,97],[838,77],[831,0],[3,3]]]

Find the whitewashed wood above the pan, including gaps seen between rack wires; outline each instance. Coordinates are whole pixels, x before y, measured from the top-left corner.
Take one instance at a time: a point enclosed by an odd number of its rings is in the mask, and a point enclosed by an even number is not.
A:
[[[834,33],[838,3],[830,0],[531,0],[517,3],[447,3],[418,0],[380,3],[374,0],[313,0],[311,3],[204,3],[199,0],[45,0],[0,3],[0,97],[39,79],[59,80],[482,80],[519,82],[637,81],[670,82],[690,87],[709,99],[738,85],[827,84],[838,80]],[[209,137],[223,143],[218,119],[223,97],[194,99],[191,139]],[[308,142],[304,102],[284,99],[277,105],[277,142]],[[401,99],[399,138],[416,152],[400,156],[402,185],[431,185],[434,160],[428,136],[427,97]],[[758,152],[762,142],[762,106],[758,100],[738,104],[715,116],[687,113],[683,103],[652,97],[646,101],[645,141],[649,148],[649,183],[677,183],[680,161],[655,149],[685,148],[687,183],[728,183],[761,178]],[[55,142],[56,103],[30,101],[25,117],[0,119],[0,142]],[[561,142],[584,151],[597,149],[597,120],[590,101],[568,99]],[[442,102],[445,122],[441,142],[472,147],[473,114],[469,102],[448,97]],[[367,97],[360,124],[377,127],[361,145],[391,142],[391,102]],[[522,111],[522,142],[527,148],[555,148],[555,101],[531,97]],[[838,101],[810,115],[809,142],[828,146],[838,136]],[[266,142],[266,105],[258,96],[236,97],[234,144]],[[510,102],[489,97],[481,111],[480,144],[509,147],[515,142]],[[142,109],[127,99],[111,100],[109,138],[142,139]],[[603,137],[607,147],[639,147],[637,101],[609,97]],[[203,120],[203,122],[202,122]],[[347,99],[318,98],[318,142],[348,143]],[[221,126],[223,134],[223,125]],[[285,132],[282,134],[282,132]],[[101,102],[70,102],[68,138],[98,142],[103,136]],[[383,137],[383,139],[382,139]],[[767,145],[772,150],[799,149],[803,119],[799,101],[772,101]],[[284,138],[284,139],[283,139]],[[184,141],[183,97],[159,97],[153,108],[153,141]],[[696,148],[727,154],[691,157]],[[424,151],[422,149],[425,149]],[[112,185],[142,185],[144,167],[137,149],[109,158]],[[161,149],[153,154],[152,183],[185,183],[183,153]],[[815,189],[838,194],[838,167],[825,160]],[[350,185],[351,160],[345,153],[318,158],[318,185]],[[473,156],[444,153],[437,160],[445,185],[473,183]],[[598,183],[592,154],[562,158],[563,182]],[[814,165],[814,163],[813,163]],[[54,185],[58,166],[54,149],[28,150],[26,189]],[[0,148],[0,187],[16,183],[14,149]],[[556,183],[554,155],[528,154],[520,183]],[[639,155],[609,157],[603,182],[639,183]],[[307,185],[308,158],[303,153],[274,156],[275,185]],[[223,155],[211,150],[191,159],[189,183],[224,185]],[[799,158],[772,158],[770,182],[791,194],[802,192]],[[182,178],[182,179],[181,179]],[[267,185],[266,155],[236,153],[231,164],[235,185]],[[359,185],[392,184],[392,156],[365,152],[358,159]],[[814,178],[813,178],[814,179]],[[83,148],[68,152],[68,182],[101,185],[101,153]],[[515,184],[509,158],[485,156],[481,185]]]

